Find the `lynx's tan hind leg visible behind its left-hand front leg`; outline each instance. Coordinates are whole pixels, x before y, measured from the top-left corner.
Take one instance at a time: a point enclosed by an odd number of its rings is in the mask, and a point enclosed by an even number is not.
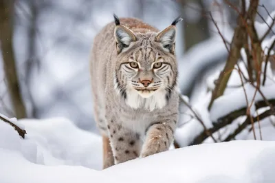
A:
[[[102,136],[103,140],[103,169],[107,169],[115,164],[113,160],[113,152],[111,150],[111,145],[109,138]]]

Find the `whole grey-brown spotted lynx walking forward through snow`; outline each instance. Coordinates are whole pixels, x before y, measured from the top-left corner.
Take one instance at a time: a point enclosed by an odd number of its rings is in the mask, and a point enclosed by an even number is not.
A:
[[[159,31],[113,15],[91,51],[94,115],[103,138],[103,168],[167,151],[178,118],[178,17]]]

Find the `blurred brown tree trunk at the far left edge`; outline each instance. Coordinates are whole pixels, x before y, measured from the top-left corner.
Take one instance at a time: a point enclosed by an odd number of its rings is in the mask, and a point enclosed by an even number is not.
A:
[[[8,83],[8,90],[12,100],[14,114],[17,118],[25,118],[25,106],[21,97],[17,69],[15,65],[12,34],[13,34],[13,13],[14,1],[0,0],[0,42],[3,57],[5,77]]]

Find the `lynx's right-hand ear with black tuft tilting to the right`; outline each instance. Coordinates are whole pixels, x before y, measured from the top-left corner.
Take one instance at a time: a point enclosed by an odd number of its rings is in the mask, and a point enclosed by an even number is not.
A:
[[[175,39],[176,39],[176,24],[179,21],[182,21],[183,19],[181,17],[177,17],[175,21],[166,29],[162,30],[162,32],[159,32],[156,36],[156,41],[159,43],[162,43],[162,47],[164,47],[164,50],[167,50],[168,52],[174,54],[175,52]]]

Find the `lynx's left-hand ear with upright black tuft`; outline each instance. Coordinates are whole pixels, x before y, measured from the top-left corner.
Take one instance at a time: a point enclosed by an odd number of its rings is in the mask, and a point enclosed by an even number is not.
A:
[[[120,25],[120,20],[115,14],[113,14],[113,17],[115,18],[116,25],[114,31],[116,49],[119,54],[125,47],[129,47],[132,41],[136,41],[136,37],[135,34],[133,34],[131,30],[129,30],[129,28]]]

